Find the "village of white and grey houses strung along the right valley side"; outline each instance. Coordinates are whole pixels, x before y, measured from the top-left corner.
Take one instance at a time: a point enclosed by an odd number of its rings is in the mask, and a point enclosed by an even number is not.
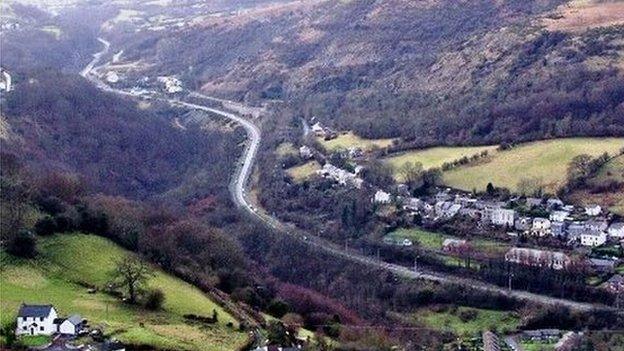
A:
[[[319,122],[309,129],[324,140],[332,140],[339,134]],[[618,296],[624,293],[624,220],[599,205],[578,206],[547,195],[492,196],[444,186],[436,186],[427,195],[412,196],[404,183],[385,189],[366,184],[362,179],[366,152],[358,147],[341,152],[352,161],[351,170],[339,168],[325,159],[316,174],[339,186],[369,188],[374,194],[370,201],[377,208],[376,216],[382,220],[391,213],[392,216],[418,218],[412,221],[418,222],[413,224],[415,227],[439,227],[453,221],[469,223],[475,233],[486,233],[487,239],[496,238],[494,243],[506,247],[503,254],[506,262],[553,270],[581,264],[602,277],[599,280],[602,288]],[[323,154],[313,145],[303,145],[299,156],[309,160],[323,157]],[[417,244],[409,237],[390,234],[383,237],[383,243],[407,248]],[[470,239],[447,237],[441,251],[445,255],[460,256],[478,249],[471,246]]]

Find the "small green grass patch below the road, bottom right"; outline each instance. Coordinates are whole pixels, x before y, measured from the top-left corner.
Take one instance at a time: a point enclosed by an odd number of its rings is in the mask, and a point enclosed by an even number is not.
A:
[[[437,330],[468,336],[492,330],[505,334],[514,331],[520,318],[512,312],[472,307],[449,308],[444,311],[421,309],[413,314],[417,322]]]

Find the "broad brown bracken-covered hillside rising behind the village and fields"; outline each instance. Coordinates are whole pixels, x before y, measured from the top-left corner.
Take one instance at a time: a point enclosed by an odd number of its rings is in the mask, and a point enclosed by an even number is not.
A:
[[[133,59],[365,137],[624,134],[621,1],[302,1],[200,26],[143,36]]]

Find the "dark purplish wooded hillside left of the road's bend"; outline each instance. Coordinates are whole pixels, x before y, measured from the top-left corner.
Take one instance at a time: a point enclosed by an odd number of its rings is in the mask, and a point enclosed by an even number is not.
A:
[[[96,191],[133,198],[190,181],[195,187],[184,196],[226,193],[227,168],[238,155],[230,152],[238,148],[231,133],[176,128],[173,117],[184,119],[185,111],[146,108],[75,75],[34,71],[29,80],[2,103],[3,124],[13,137],[1,145],[38,173],[76,173]]]

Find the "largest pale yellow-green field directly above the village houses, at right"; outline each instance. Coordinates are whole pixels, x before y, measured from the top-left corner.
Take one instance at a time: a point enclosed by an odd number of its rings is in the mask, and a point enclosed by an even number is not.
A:
[[[484,190],[488,182],[516,190],[521,179],[539,179],[546,191],[565,182],[568,163],[576,155],[617,153],[624,138],[568,138],[538,141],[492,153],[489,162],[463,166],[444,173],[444,183],[463,190]]]

